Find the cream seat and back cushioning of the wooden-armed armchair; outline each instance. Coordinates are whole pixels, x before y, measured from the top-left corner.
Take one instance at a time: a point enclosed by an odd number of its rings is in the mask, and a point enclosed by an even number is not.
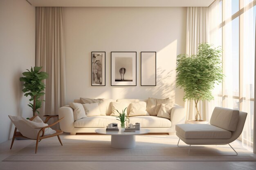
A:
[[[29,139],[36,139],[40,128],[48,126],[48,124],[45,124],[38,116],[36,116],[32,121],[21,116],[8,116],[20,133]],[[46,128],[44,135],[51,135],[54,133],[56,133],[56,131],[52,130],[52,128]],[[42,134],[40,134],[40,136],[41,135]]]

